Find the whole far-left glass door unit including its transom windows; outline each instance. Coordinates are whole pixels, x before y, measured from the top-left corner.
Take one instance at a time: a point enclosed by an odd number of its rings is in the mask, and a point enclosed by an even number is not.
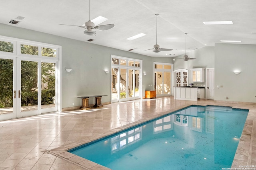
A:
[[[0,120],[58,111],[58,49],[1,40]],[[46,53],[48,56],[44,59]],[[39,54],[41,57],[38,57]]]

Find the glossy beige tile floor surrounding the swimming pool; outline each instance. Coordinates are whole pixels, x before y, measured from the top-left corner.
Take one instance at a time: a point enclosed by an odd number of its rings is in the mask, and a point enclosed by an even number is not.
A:
[[[250,109],[232,167],[256,165],[256,105],[164,97],[0,121],[0,170],[107,170],[66,150],[191,104]]]

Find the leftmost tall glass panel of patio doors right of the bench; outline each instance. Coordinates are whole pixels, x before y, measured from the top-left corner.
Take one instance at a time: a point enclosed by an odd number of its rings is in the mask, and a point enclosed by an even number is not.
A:
[[[119,92],[119,83],[118,83],[118,68],[112,68],[111,71],[111,101],[112,102],[118,102],[118,92]]]

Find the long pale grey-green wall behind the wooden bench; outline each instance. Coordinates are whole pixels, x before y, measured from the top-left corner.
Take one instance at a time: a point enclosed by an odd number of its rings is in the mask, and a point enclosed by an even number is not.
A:
[[[106,74],[104,70],[110,70],[111,55],[142,60],[142,73],[147,73],[146,76],[143,75],[142,77],[143,96],[145,95],[144,90],[151,90],[146,89],[148,84],[154,83],[153,62],[172,63],[170,58],[152,58],[129,51],[76,41],[1,23],[0,35],[62,46],[62,108],[73,107],[73,102],[74,106],[81,106],[82,100],[77,98],[77,96],[83,95],[106,94],[108,96],[102,97],[102,102],[110,102],[111,74]],[[84,34],[81,36],[85,36],[84,38],[88,39]],[[72,68],[72,71],[66,72],[65,68]],[[90,104],[94,102],[93,100],[90,100]]]

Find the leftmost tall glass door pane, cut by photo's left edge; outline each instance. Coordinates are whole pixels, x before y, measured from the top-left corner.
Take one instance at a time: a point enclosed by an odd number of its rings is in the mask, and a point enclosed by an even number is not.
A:
[[[13,113],[16,91],[13,92],[13,68],[12,59],[0,59],[0,115]]]

